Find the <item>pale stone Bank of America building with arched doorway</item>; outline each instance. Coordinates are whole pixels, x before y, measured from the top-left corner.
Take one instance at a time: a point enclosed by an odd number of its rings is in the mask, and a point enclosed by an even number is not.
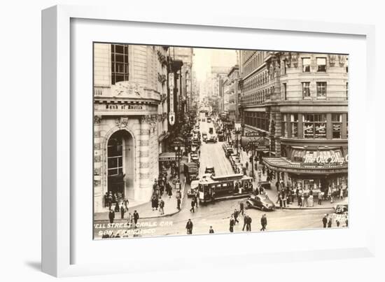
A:
[[[168,131],[167,64],[167,47],[94,44],[96,212],[106,192],[151,197]]]

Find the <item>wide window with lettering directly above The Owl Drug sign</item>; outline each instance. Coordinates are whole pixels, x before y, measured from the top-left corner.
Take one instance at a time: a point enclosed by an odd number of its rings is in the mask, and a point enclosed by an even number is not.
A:
[[[304,114],[303,115],[304,138],[325,139],[326,138],[326,115]]]

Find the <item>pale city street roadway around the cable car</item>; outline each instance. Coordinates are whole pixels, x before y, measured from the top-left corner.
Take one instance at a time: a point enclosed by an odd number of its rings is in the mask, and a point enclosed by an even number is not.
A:
[[[209,132],[209,127],[214,127],[213,123],[200,122],[200,131]],[[215,135],[215,129],[214,129]],[[204,143],[202,142],[201,150],[201,166],[200,176],[204,174],[204,168],[214,166],[216,175],[234,174],[232,167],[222,149],[223,142]],[[186,186],[188,190],[189,185]],[[186,222],[190,218],[193,222],[193,234],[208,234],[209,227],[212,226],[216,233],[229,232],[229,220],[231,213],[239,210],[241,199],[230,199],[215,204],[200,205],[195,208],[195,212],[191,212],[191,199],[184,196],[182,209],[173,216],[164,218],[146,218],[139,219],[139,226],[134,229],[119,222],[118,227],[108,228],[108,220],[97,221],[94,228],[94,237],[100,238],[105,230],[119,234],[120,237],[125,236],[125,232],[129,232],[127,237],[136,236],[164,236],[164,235],[181,235],[186,234]],[[245,209],[245,212],[252,218],[251,230],[259,232],[260,218],[263,213],[257,209]],[[322,218],[325,213],[333,213],[333,209],[276,209],[276,211],[267,212],[267,231],[277,230],[300,230],[314,229],[322,227]],[[242,232],[243,216],[239,216],[239,223],[235,225],[234,232]],[[332,226],[335,227],[335,226]]]

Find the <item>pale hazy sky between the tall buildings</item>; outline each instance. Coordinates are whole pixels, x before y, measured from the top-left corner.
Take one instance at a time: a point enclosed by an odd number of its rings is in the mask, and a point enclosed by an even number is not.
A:
[[[194,48],[193,69],[200,82],[211,72],[211,65],[228,66],[230,69],[235,64],[237,64],[235,50]]]

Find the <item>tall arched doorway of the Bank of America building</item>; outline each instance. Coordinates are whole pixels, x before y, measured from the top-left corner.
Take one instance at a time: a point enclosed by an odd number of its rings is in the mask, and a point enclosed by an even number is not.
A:
[[[107,143],[107,190],[134,198],[134,139],[126,130],[114,132]]]

